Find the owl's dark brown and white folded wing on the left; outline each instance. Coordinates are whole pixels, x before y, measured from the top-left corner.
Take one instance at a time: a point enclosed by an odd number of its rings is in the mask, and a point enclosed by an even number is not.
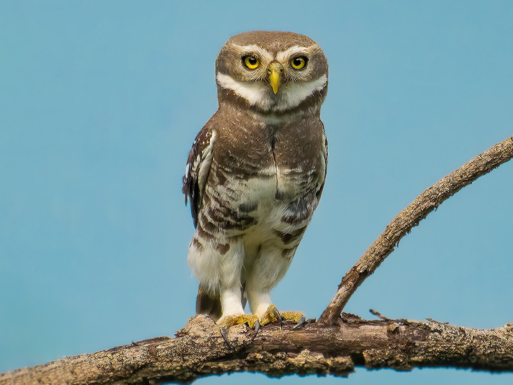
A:
[[[194,227],[198,224],[198,212],[201,208],[203,192],[212,164],[214,137],[215,133],[208,128],[207,123],[192,143],[185,166],[182,192],[185,194],[185,204],[189,199]]]

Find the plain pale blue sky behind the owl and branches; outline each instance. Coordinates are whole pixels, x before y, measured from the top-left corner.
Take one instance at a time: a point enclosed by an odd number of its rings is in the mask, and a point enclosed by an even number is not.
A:
[[[321,204],[284,310],[318,317],[343,274],[432,183],[513,134],[509,1],[0,3],[0,372],[173,335],[194,313],[181,178],[233,34],[291,30],[330,65]],[[347,312],[513,321],[513,163],[406,236]],[[272,383],[233,374],[206,383]],[[283,383],[334,383],[286,377]],[[511,374],[358,369],[348,383],[506,384]]]

